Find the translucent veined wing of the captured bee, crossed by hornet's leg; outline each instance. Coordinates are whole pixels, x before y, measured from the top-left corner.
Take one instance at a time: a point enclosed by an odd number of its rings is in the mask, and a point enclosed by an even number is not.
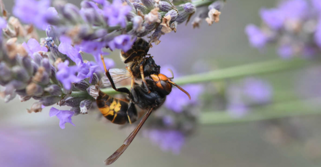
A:
[[[114,83],[120,82],[130,77],[130,73],[127,69],[111,68],[109,69],[109,73]],[[100,87],[108,87],[108,86],[111,86],[110,81],[107,78],[107,76],[103,76],[100,79]]]

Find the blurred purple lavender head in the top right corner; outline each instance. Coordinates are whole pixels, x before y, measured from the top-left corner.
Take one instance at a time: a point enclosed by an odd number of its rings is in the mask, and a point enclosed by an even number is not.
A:
[[[277,53],[282,58],[294,55],[311,58],[321,50],[319,3],[318,0],[282,0],[274,8],[262,8],[263,26],[246,27],[250,44],[262,49],[267,43],[278,43]]]

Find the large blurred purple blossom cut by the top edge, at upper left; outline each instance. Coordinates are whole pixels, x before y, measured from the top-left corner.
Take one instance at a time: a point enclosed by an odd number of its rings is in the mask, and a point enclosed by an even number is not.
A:
[[[46,18],[57,15],[50,7],[50,0],[15,0],[13,13],[24,23],[32,23],[39,29],[46,29]]]

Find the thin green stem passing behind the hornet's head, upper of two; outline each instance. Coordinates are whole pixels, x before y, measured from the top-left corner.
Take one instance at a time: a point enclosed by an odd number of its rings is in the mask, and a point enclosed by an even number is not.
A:
[[[306,64],[306,61],[293,59],[293,60],[270,60],[265,62],[256,62],[251,64],[245,64],[240,66],[234,66],[225,69],[217,69],[210,72],[199,73],[180,77],[175,79],[175,82],[179,85],[188,84],[188,83],[200,83],[208,81],[218,81],[228,78],[236,78],[247,75],[255,75],[262,73],[270,73],[282,70],[288,70],[293,68],[302,67]],[[130,88],[129,85],[124,86]],[[103,88],[101,89],[104,93],[115,94],[118,93],[112,88]]]

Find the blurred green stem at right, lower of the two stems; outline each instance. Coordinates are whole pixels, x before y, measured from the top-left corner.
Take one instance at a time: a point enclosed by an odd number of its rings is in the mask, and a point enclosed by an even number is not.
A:
[[[208,111],[200,116],[201,124],[224,124],[276,119],[292,116],[321,114],[321,98],[274,103],[250,110],[243,117],[235,117],[228,111]]]

